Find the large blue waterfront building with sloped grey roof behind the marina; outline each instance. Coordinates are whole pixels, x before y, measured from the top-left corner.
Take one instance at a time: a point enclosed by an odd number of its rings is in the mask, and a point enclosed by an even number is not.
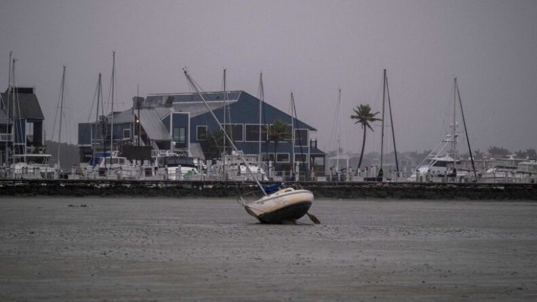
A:
[[[231,134],[238,150],[244,154],[258,154],[259,99],[244,91],[205,92],[202,95]],[[225,118],[224,103],[227,108]],[[222,137],[220,126],[198,94],[150,94],[145,99],[134,98],[131,109],[114,113],[113,118],[113,145],[118,150],[121,145],[137,145],[139,142],[139,145],[152,146],[153,150],[185,151],[203,159],[220,157],[215,156],[218,152],[210,150],[215,145],[223,145],[215,141],[215,138]],[[294,131],[294,148],[290,140],[281,141],[274,152],[274,142],[268,141],[266,125],[273,124],[275,120],[288,124],[289,136]],[[110,121],[111,116],[108,115],[100,117],[100,121],[79,124],[81,161],[91,157],[92,148],[102,145],[103,136],[104,147],[109,148]],[[325,153],[317,148],[317,141],[311,138],[317,131],[315,128],[292,119],[268,103],[263,103],[261,124],[264,161],[275,161],[277,171],[288,170],[292,163],[303,162],[307,171],[313,169],[317,175],[324,175]],[[104,132],[103,127],[106,127]],[[304,168],[301,167],[301,170]]]

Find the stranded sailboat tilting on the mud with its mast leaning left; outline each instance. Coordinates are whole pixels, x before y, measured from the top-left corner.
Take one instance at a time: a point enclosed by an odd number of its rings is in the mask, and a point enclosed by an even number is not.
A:
[[[200,99],[205,104],[206,108],[213,115],[213,118],[220,126],[220,130],[227,136],[231,148],[237,152],[238,156],[243,161],[243,164],[248,167],[246,170],[250,174],[251,178],[255,180],[259,191],[262,192],[262,196],[259,198],[257,195],[258,192],[250,192],[238,197],[238,202],[245,208],[246,212],[253,217],[257,218],[259,222],[268,223],[268,224],[281,224],[286,222],[294,222],[299,220],[304,215],[308,215],[311,220],[315,223],[320,223],[317,220],[317,217],[308,213],[308,210],[313,203],[313,193],[306,189],[294,189],[292,187],[284,187],[282,184],[278,183],[276,185],[264,186],[261,185],[255,173],[252,173],[250,166],[246,163],[241,152],[238,152],[236,145],[233,143],[231,138],[229,138],[224,127],[217,119],[213,110],[208,106],[207,101],[203,97],[203,94],[199,91],[199,87],[196,85],[194,80],[190,78],[188,71],[183,69],[185,76],[189,84],[194,87],[196,93],[199,95]]]

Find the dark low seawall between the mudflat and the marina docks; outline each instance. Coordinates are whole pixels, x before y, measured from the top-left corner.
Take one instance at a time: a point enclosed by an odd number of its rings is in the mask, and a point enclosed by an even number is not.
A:
[[[535,184],[300,182],[315,198],[536,200]],[[234,197],[254,182],[162,180],[0,180],[0,196]]]

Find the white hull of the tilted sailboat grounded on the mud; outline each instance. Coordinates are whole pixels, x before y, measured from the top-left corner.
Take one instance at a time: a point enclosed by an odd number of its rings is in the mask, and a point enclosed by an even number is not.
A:
[[[308,213],[312,202],[312,192],[287,188],[245,204],[245,209],[259,222],[279,224],[300,219]]]

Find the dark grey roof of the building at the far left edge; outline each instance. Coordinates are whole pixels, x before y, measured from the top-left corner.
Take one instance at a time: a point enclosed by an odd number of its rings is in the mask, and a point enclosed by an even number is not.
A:
[[[33,93],[34,89],[17,87],[15,91],[18,93],[9,95],[9,104],[6,101],[8,99],[8,91],[6,90],[6,92],[1,94],[3,103],[6,106],[13,108],[13,103],[17,105],[15,106],[15,119],[45,120],[37,96]]]

